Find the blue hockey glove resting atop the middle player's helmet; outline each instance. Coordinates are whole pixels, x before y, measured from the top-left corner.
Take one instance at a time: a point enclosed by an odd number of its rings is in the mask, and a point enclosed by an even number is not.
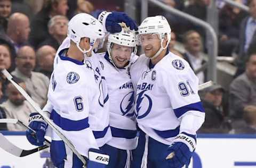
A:
[[[106,30],[110,33],[121,32],[122,28],[118,23],[122,22],[124,22],[126,26],[130,28],[130,30],[138,30],[136,22],[124,12],[103,11],[99,14],[98,19],[102,23],[102,25],[106,27]]]

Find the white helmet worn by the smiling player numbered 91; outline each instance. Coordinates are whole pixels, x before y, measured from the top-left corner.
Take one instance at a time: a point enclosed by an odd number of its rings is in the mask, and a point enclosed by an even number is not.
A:
[[[171,41],[171,27],[166,18],[162,15],[151,16],[144,19],[138,27],[138,32],[139,36],[143,34],[157,34],[161,40],[161,48],[159,48],[158,52],[151,58],[158,56],[163,49],[168,47]],[[163,47],[165,35],[167,35],[167,45]]]

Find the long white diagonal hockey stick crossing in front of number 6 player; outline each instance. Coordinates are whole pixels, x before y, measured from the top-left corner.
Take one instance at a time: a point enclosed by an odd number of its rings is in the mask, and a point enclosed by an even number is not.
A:
[[[70,148],[70,150],[83,162],[84,166],[86,166],[85,158],[77,152],[74,145],[65,137],[59,130],[58,126],[52,122],[49,117],[41,110],[41,108],[34,102],[34,100],[26,93],[26,91],[21,88],[16,82],[12,80],[12,75],[6,70],[3,69],[2,73],[5,77],[14,85],[15,88],[19,90],[19,92],[26,98],[26,100],[35,108],[35,110],[42,115],[44,120],[50,125],[50,127],[57,133],[57,135],[63,140],[63,142]]]

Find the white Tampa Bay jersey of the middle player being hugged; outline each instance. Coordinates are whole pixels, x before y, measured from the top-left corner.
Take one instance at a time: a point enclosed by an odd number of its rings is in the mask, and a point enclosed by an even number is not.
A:
[[[108,53],[98,54],[109,93],[109,125],[113,138],[108,145],[119,149],[137,147],[137,128],[134,115],[134,89],[127,68],[117,69]],[[138,56],[133,56],[135,60]]]

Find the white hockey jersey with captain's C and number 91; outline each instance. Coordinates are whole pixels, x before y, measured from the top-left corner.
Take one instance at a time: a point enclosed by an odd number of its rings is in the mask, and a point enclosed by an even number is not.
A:
[[[151,138],[171,145],[180,133],[182,116],[189,112],[204,118],[197,94],[198,78],[185,60],[171,52],[155,66],[149,62],[143,54],[130,71],[132,82],[137,86],[138,126]]]

